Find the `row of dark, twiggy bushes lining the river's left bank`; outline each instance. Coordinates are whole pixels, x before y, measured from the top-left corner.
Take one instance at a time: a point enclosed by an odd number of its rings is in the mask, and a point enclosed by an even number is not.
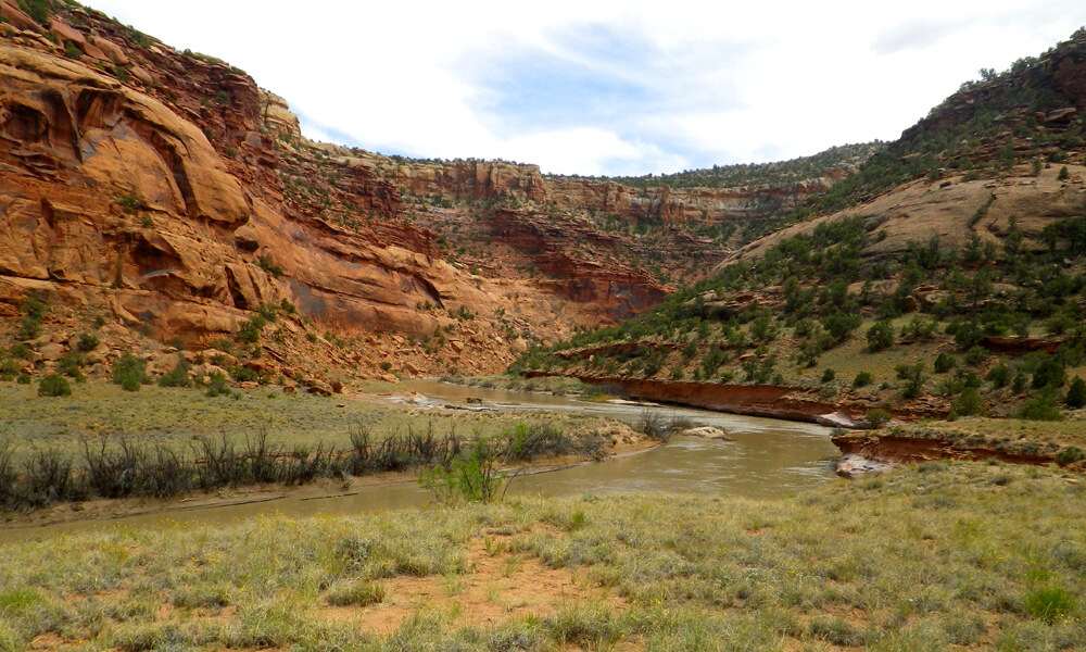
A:
[[[125,438],[111,446],[103,439],[98,446],[85,442],[78,462],[58,449],[43,449],[20,463],[13,448],[0,442],[0,511],[91,498],[167,498],[222,487],[304,485],[426,466],[449,469],[482,453],[491,463],[510,464],[571,453],[597,459],[603,450],[603,438],[573,438],[554,427],[526,424],[482,440],[455,430],[439,436],[432,427],[408,427],[406,435],[377,438],[356,426],[344,450],[320,443],[287,448],[269,441],[264,430],[240,447],[223,436],[200,438],[180,450]]]

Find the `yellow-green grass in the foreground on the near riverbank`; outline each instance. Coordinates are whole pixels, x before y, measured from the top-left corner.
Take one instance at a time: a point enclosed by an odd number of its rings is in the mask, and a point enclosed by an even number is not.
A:
[[[1083,485],[1056,469],[931,463],[768,502],[518,498],[220,528],[114,528],[0,548],[0,643],[1083,649],[1084,499]],[[442,587],[470,576],[473,547],[505,554],[495,537],[519,563],[581,573],[611,598],[457,620]],[[406,609],[399,587],[426,578],[433,594],[394,627],[323,617],[334,603],[354,610],[351,618]]]

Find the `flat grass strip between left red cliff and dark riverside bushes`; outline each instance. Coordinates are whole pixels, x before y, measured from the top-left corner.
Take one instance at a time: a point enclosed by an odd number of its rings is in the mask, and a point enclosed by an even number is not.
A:
[[[263,428],[288,449],[351,444],[351,430],[369,429],[375,437],[404,435],[432,427],[437,432],[494,436],[518,423],[550,424],[570,432],[604,425],[596,417],[573,414],[450,413],[392,406],[372,398],[323,398],[285,394],[278,389],[240,390],[237,400],[209,398],[198,389],[143,386],[138,392],[102,381],[79,385],[72,397],[39,398],[35,387],[0,383],[0,440],[22,454],[56,449],[76,455],[84,441],[122,437],[134,443],[187,449],[202,438],[223,436],[243,442]],[[163,410],[169,405],[169,410]]]

